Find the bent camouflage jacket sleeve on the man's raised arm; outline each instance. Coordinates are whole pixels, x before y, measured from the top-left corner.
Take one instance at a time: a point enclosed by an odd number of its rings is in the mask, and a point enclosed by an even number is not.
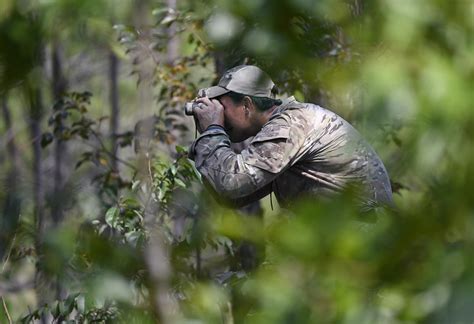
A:
[[[224,130],[213,129],[196,139],[190,157],[220,196],[248,203],[270,193],[271,182],[291,165],[296,152],[290,127],[270,121],[240,154],[233,152]]]

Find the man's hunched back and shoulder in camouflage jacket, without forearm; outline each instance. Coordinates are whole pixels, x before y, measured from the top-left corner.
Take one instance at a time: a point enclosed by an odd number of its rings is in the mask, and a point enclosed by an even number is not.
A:
[[[278,174],[272,191],[283,206],[304,195],[330,196],[351,184],[359,186],[364,205],[392,202],[387,171],[374,150],[343,118],[317,105],[287,99],[249,150],[242,152],[244,160]]]

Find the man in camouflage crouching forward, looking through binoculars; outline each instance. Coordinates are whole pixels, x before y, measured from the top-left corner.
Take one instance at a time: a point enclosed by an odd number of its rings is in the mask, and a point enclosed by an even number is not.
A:
[[[274,83],[256,66],[227,71],[194,109],[201,135],[190,149],[219,196],[236,205],[273,192],[282,207],[296,198],[328,197],[355,185],[361,205],[390,205],[387,171],[343,118],[294,97],[274,99]],[[232,142],[251,136],[240,154]]]

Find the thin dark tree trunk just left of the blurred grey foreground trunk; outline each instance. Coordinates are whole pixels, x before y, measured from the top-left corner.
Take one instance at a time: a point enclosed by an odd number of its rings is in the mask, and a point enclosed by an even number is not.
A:
[[[110,139],[112,145],[112,168],[117,171],[117,134],[119,129],[119,94],[118,94],[118,69],[117,56],[110,51],[109,54],[109,84],[110,84]]]

